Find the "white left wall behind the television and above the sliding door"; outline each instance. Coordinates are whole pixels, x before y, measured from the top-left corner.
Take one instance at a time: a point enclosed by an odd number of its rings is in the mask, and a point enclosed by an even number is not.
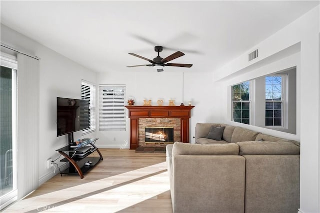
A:
[[[41,58],[39,61],[39,141],[34,142],[39,146],[39,177],[34,178],[39,180],[40,185],[54,175],[53,168],[46,169],[46,160],[57,158],[59,154],[54,150],[67,145],[67,136],[56,137],[56,97],[81,98],[81,79],[95,83],[96,73],[3,24],[1,24],[1,43]],[[77,132],[74,137],[80,138],[81,134]],[[85,137],[94,138],[95,133]],[[25,167],[30,166],[30,162],[18,163],[25,163]],[[56,163],[62,166],[59,160]]]

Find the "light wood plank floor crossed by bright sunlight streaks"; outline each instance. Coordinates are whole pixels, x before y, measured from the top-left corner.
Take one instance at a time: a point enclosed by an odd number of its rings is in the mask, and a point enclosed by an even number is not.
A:
[[[164,153],[99,150],[83,179],[58,174],[3,212],[172,213]]]

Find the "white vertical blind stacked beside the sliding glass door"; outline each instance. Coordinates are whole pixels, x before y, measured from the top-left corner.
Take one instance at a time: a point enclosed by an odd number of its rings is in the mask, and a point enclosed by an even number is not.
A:
[[[39,140],[39,61],[20,53],[17,58],[17,187],[21,199],[39,185],[39,147],[45,137]]]

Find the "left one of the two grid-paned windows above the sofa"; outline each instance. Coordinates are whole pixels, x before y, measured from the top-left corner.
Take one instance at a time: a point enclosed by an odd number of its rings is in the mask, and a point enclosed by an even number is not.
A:
[[[232,120],[250,124],[249,81],[233,85],[232,88]]]

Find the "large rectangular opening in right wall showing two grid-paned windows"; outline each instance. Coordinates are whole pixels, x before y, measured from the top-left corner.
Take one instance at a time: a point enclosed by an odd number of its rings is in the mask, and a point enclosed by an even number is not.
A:
[[[234,82],[227,94],[230,121],[249,121],[249,125],[296,134],[296,77],[294,66],[244,83]]]

